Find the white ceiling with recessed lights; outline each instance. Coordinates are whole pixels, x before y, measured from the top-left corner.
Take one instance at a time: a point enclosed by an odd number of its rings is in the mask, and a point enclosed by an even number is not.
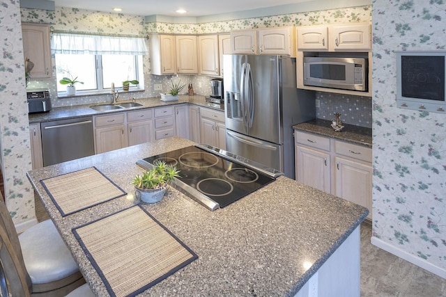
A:
[[[104,12],[112,12],[112,8],[118,7],[126,15],[201,17],[311,1],[315,0],[54,0],[54,3],[56,7]],[[176,13],[179,8],[187,10],[187,13]]]

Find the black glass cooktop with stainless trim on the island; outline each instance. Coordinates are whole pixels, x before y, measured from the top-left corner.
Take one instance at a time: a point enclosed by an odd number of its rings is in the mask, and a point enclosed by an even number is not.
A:
[[[160,160],[176,166],[174,186],[210,210],[226,207],[282,175],[272,168],[210,145],[192,145],[140,159],[145,169]]]

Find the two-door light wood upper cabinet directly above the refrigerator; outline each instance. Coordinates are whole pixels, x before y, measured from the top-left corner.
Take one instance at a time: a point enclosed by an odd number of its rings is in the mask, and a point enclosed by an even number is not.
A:
[[[232,54],[295,56],[293,27],[231,32]]]

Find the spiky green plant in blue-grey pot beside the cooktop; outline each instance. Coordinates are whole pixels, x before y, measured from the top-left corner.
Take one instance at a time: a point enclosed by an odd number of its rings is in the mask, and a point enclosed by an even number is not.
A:
[[[164,161],[155,161],[153,168],[132,180],[135,195],[146,203],[155,203],[162,199],[167,184],[179,177],[176,166],[166,164]]]

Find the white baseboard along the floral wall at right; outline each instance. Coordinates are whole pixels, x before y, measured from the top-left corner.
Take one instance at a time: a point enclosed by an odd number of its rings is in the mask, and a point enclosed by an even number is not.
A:
[[[440,268],[430,262],[427,262],[424,259],[421,259],[420,257],[417,257],[415,255],[412,255],[404,250],[401,250],[400,248],[397,248],[396,246],[392,246],[389,243],[378,239],[374,236],[371,237],[371,244],[374,246],[377,246],[378,248],[381,248],[385,250],[386,252],[390,252],[391,254],[400,257],[401,259],[405,259],[407,262],[410,262],[414,265],[420,266],[423,269],[426,269],[426,271],[429,271],[433,274],[438,275],[440,278],[446,278],[446,269]]]

